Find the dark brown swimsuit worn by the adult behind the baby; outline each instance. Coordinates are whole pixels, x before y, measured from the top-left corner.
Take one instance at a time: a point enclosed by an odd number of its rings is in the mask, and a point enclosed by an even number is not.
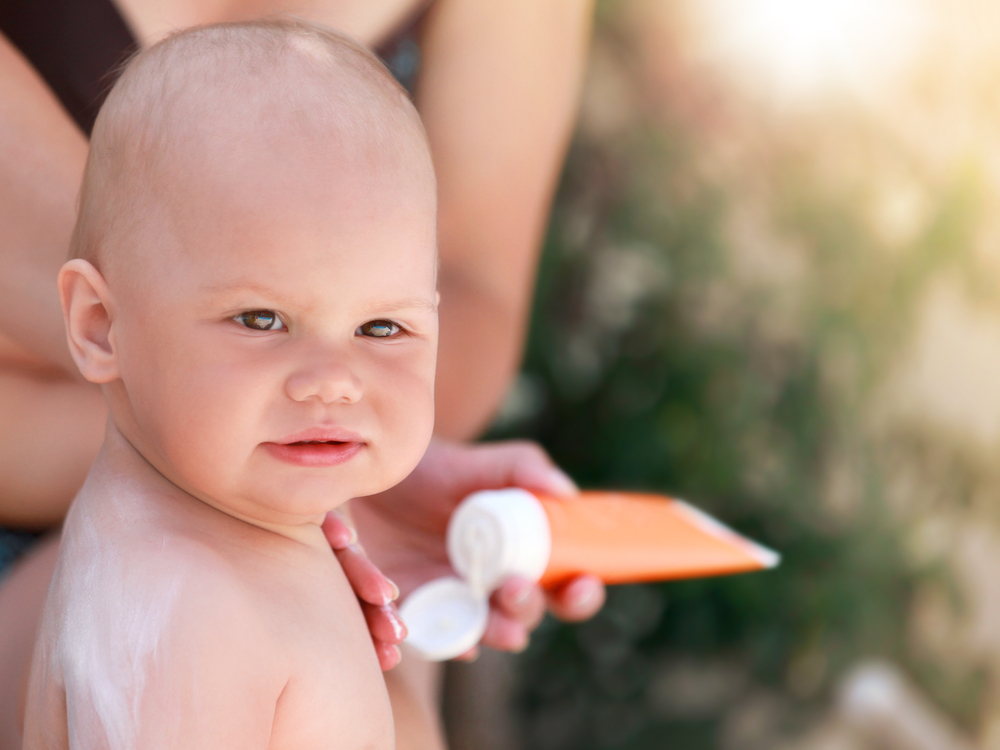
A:
[[[410,92],[420,67],[416,26],[428,5],[376,50]],[[111,0],[0,0],[0,32],[88,136],[116,71],[139,46]],[[0,581],[39,537],[0,526]]]

